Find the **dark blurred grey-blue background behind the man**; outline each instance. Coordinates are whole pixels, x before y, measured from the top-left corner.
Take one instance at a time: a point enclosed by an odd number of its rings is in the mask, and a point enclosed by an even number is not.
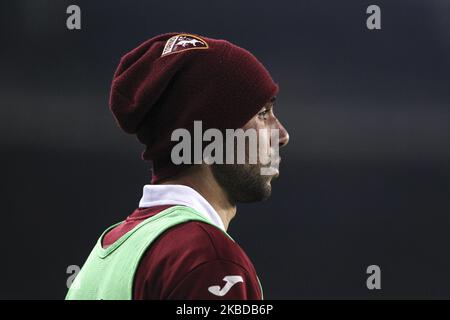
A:
[[[281,87],[281,176],[229,230],[266,298],[450,298],[449,21],[446,0],[0,2],[0,298],[62,299],[66,268],[137,206],[149,167],[109,86],[169,31],[245,47]]]

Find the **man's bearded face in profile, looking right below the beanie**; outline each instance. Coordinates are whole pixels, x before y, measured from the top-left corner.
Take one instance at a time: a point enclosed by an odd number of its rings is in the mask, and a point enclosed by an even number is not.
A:
[[[264,105],[242,129],[256,130],[258,140],[257,163],[249,163],[250,152],[246,143],[245,164],[213,164],[214,177],[229,196],[236,202],[255,202],[267,199],[271,192],[271,182],[278,177],[278,164],[281,158],[276,147],[283,147],[289,142],[289,134],[275,117],[273,106],[275,99]],[[278,139],[273,131],[278,131]],[[237,148],[237,146],[235,146]],[[237,154],[235,150],[235,155]],[[262,169],[265,173],[262,174]]]

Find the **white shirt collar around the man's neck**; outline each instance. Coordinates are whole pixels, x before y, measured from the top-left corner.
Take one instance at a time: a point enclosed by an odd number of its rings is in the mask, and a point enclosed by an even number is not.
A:
[[[216,227],[225,231],[225,226],[216,210],[194,189],[179,184],[148,184],[139,201],[139,208],[161,205],[183,205],[201,213]]]

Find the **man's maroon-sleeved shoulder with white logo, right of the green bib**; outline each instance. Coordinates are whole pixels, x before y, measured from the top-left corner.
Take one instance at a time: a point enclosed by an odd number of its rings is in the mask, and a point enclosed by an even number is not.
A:
[[[225,298],[260,299],[256,272],[239,245],[213,225],[189,221],[170,228],[149,247],[136,272],[134,298],[219,298],[226,292],[216,294],[214,286],[230,276],[238,280]]]

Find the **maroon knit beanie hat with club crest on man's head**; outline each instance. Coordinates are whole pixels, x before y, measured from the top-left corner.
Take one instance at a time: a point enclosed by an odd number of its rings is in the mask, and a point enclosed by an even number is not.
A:
[[[119,126],[146,146],[152,182],[184,166],[172,163],[178,128],[238,129],[278,93],[269,72],[250,52],[226,40],[186,33],[156,36],[120,60],[109,106]]]

